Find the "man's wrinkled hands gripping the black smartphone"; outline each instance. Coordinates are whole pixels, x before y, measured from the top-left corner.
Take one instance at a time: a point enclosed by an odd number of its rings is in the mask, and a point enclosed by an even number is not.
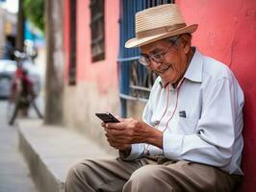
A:
[[[148,143],[163,148],[163,132],[133,118],[119,120],[120,123],[102,123],[107,140],[115,149],[128,151],[134,143]]]

